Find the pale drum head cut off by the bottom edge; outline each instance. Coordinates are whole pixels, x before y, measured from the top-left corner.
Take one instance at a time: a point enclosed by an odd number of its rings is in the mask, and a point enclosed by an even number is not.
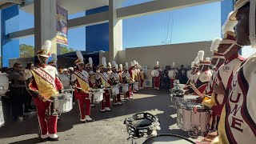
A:
[[[184,138],[180,135],[174,134],[159,134],[156,137],[148,138],[143,144],[171,144],[171,143],[178,143],[178,144],[191,144],[195,143],[190,139]]]

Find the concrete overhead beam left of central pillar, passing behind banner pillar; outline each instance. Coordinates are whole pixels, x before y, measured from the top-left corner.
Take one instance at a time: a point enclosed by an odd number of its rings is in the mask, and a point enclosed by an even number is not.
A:
[[[109,21],[109,12],[105,11],[97,14],[90,14],[80,18],[73,18],[68,21],[68,28],[74,29],[82,26],[92,26]],[[16,31],[9,34],[9,38],[25,38],[34,35],[34,28]]]

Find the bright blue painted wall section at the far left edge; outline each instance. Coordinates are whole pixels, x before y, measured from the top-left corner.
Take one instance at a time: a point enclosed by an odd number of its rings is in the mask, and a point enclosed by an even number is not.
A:
[[[18,14],[17,5],[1,10],[2,67],[9,66],[9,58],[19,58],[19,40],[8,37],[8,34],[18,31]]]

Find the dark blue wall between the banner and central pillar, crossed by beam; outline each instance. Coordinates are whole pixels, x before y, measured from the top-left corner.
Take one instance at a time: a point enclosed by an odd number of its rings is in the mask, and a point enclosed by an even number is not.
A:
[[[109,10],[109,6],[102,6],[86,10],[86,15],[96,14]],[[109,51],[109,23],[86,26],[86,51]]]

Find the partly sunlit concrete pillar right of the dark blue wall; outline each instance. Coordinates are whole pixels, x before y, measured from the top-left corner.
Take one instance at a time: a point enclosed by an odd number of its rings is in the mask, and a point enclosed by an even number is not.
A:
[[[118,19],[117,9],[122,7],[122,1],[109,1],[109,31],[110,31],[110,62],[117,60],[118,50],[122,50],[122,19]]]

